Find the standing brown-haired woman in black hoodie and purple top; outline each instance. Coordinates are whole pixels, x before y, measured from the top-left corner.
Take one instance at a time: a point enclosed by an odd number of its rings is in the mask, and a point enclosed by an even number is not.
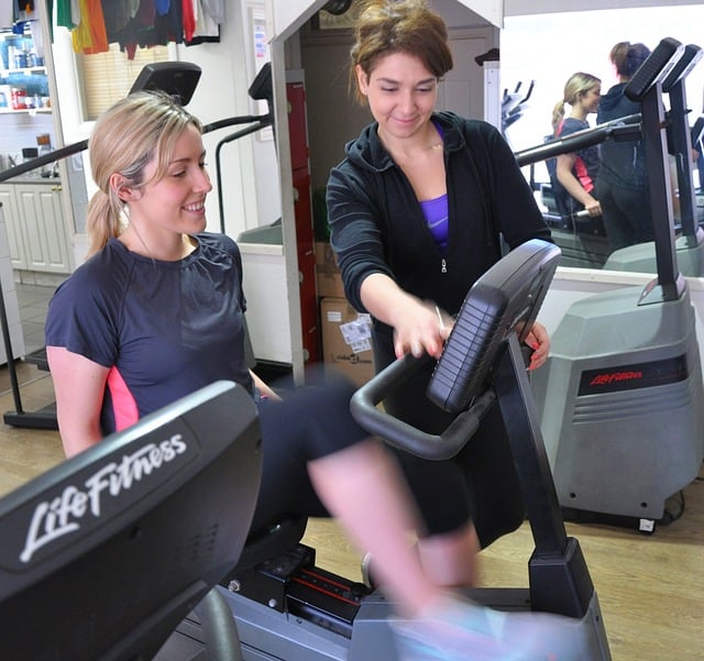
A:
[[[373,122],[345,146],[327,187],[331,245],[348,300],[373,318],[374,363],[439,357],[466,293],[509,247],[550,241],[515,156],[491,124],[436,111],[452,68],[447,26],[422,0],[362,5],[350,82]],[[530,367],[548,356],[536,323]],[[429,433],[452,420],[426,397],[432,361],[384,400]],[[418,549],[439,585],[473,585],[480,542],[461,461],[399,455],[427,529]],[[439,496],[442,485],[442,496]],[[508,487],[507,487],[508,491]],[[374,559],[372,558],[372,562]]]

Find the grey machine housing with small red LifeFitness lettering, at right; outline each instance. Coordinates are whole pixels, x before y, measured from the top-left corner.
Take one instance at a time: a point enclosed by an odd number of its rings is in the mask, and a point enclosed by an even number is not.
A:
[[[575,302],[532,376],[563,507],[660,519],[702,464],[704,386],[689,289],[657,305],[640,298],[628,287]],[[602,375],[602,393],[580,394],[585,374]]]

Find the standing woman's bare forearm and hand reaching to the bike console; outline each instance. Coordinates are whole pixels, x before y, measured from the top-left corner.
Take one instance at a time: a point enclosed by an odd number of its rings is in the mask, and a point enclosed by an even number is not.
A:
[[[360,295],[372,316],[394,328],[397,357],[406,353],[419,357],[424,350],[435,357],[440,356],[452,330],[453,320],[449,315],[404,291],[381,273],[364,279]]]

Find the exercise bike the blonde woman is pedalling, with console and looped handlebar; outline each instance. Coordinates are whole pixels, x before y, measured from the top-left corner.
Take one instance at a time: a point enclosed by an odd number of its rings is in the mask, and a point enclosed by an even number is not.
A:
[[[436,404],[462,411],[442,434],[420,432],[376,406],[424,359],[407,356],[389,365],[358,390],[351,410],[371,432],[432,460],[453,456],[470,447],[474,432],[495,407],[505,422],[508,452],[535,540],[530,585],[468,594],[498,609],[534,609],[574,618],[580,623],[574,658],[608,660],[598,599],[584,557],[562,522],[516,332],[535,319],[559,257],[553,244],[528,242],[490,269],[468,295],[428,388]],[[522,516],[513,526],[521,520]],[[372,592],[317,568],[315,550],[299,543],[304,529],[305,520],[283,520],[280,526],[252,536],[239,565],[221,581],[218,590],[237,626],[241,658],[395,659],[388,621],[396,615],[383,588]],[[202,642],[201,620],[191,614],[156,659],[202,659],[202,650],[193,651]]]

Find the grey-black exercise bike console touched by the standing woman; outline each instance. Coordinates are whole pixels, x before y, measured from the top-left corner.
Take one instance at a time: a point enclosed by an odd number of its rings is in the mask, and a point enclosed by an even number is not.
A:
[[[470,289],[436,365],[427,395],[452,412],[483,392],[510,332],[527,334],[552,282],[560,249],[534,239],[510,251]]]

